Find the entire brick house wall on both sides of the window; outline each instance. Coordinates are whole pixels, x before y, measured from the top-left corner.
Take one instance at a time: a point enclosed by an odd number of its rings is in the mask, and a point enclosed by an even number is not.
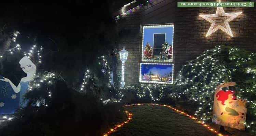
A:
[[[154,8],[154,12],[151,13],[154,17],[150,17],[148,21],[143,20],[143,12],[136,12],[127,16],[124,23],[119,23],[123,33],[128,33],[122,36],[121,31],[119,43],[119,50],[125,46],[130,52],[125,67],[126,84],[139,82],[140,24],[148,24],[148,22],[150,24],[174,23],[174,74],[181,69],[182,65],[186,64],[186,61],[193,60],[204,50],[217,45],[229,45],[256,51],[256,8],[224,7],[226,13],[243,12],[229,22],[233,37],[221,30],[205,37],[211,23],[199,15],[214,14],[216,7],[177,7],[176,2],[172,3],[159,6],[159,10]],[[165,8],[165,10],[161,10],[161,8]],[[170,14],[174,16],[172,17]],[[162,19],[155,15],[161,15]],[[147,14],[147,16],[150,15]],[[218,18],[220,22],[223,19],[225,18]],[[120,65],[118,66],[118,71],[120,71]]]

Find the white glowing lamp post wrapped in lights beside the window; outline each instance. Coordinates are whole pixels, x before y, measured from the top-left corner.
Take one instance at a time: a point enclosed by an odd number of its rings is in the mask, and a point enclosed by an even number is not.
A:
[[[127,60],[128,53],[129,52],[125,50],[125,47],[123,47],[123,50],[119,51],[120,60],[122,61],[122,79],[120,88],[125,86],[125,62]]]

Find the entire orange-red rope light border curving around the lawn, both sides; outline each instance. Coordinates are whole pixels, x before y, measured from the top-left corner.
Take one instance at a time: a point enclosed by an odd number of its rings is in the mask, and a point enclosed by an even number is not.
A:
[[[191,119],[193,119],[193,120],[196,120],[197,123],[203,125],[203,126],[206,127],[208,130],[210,130],[212,133],[215,133],[217,136],[228,136],[228,135],[223,135],[222,133],[217,132],[216,130],[214,130],[213,128],[211,128],[209,125],[203,123],[202,121],[197,120],[197,118],[195,118],[195,117],[193,117],[193,116],[191,116],[191,115],[189,115],[189,114],[187,114],[187,113],[184,113],[184,112],[180,111],[179,109],[176,109],[176,108],[174,108],[174,107],[172,107],[172,106],[169,106],[169,105],[165,105],[165,104],[154,104],[154,103],[148,103],[148,104],[140,104],[140,103],[139,103],[139,104],[124,105],[123,107],[127,107],[127,106],[139,106],[139,105],[166,106],[166,107],[168,107],[168,108],[171,108],[171,109],[172,109],[173,111],[175,111],[175,112],[178,112],[178,113],[183,114],[183,115],[185,115],[185,116],[187,116],[187,117],[189,117],[189,118],[191,118]],[[109,131],[108,133],[104,134],[103,136],[109,136],[109,134],[113,133],[115,130],[117,130],[118,128],[121,128],[124,124],[129,123],[129,122],[131,121],[131,119],[132,119],[132,114],[129,113],[128,111],[125,111],[125,113],[127,114],[128,119],[127,119],[125,122],[121,123],[121,124],[115,125],[115,126],[116,126],[115,128],[110,129],[110,131]]]

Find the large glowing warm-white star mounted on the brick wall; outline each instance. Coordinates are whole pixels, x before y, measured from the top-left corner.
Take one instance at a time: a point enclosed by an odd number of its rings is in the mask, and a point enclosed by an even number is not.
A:
[[[215,21],[213,21],[212,19],[210,19],[210,17],[219,17],[219,12],[221,12],[221,16],[220,17],[226,17],[226,16],[230,16],[230,18],[228,18],[227,20],[224,21],[224,24],[226,26],[226,28],[224,28],[223,26],[219,25],[213,29],[213,27],[215,26]],[[223,7],[217,7],[217,11],[215,14],[209,14],[209,15],[199,15],[200,17],[202,17],[203,19],[211,22],[211,27],[208,30],[207,34],[205,37],[211,35],[212,33],[214,33],[215,31],[217,31],[218,29],[221,29],[223,32],[227,33],[228,35],[233,37],[232,31],[230,29],[230,26],[228,24],[228,22],[230,22],[231,20],[233,20],[234,18],[236,18],[237,16],[239,16],[242,12],[236,12],[236,13],[225,13],[223,10]]]

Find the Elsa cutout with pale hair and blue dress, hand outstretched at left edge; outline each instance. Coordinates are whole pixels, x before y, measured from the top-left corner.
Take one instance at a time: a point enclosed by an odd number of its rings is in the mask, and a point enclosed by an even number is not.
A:
[[[13,90],[14,91],[14,92],[11,91],[10,93],[14,94],[15,96],[17,95],[17,99],[19,100],[18,106],[19,107],[25,107],[27,105],[27,102],[24,101],[24,95],[28,92],[29,82],[33,79],[34,73],[36,72],[37,68],[36,68],[35,64],[27,56],[23,57],[19,61],[19,64],[20,64],[20,68],[22,68],[22,70],[27,74],[27,77],[22,78],[20,80],[20,83],[18,84],[18,86],[15,86],[12,83],[12,81],[9,80],[8,78],[2,78],[0,80],[10,83],[9,88],[11,86],[11,89],[9,89],[9,90]],[[10,95],[9,95],[9,97],[10,97]],[[13,95],[11,97],[13,99]],[[10,101],[7,100],[4,106],[8,107],[8,106],[13,105],[13,104],[8,104],[8,103],[10,103]],[[11,112],[13,112],[13,111],[14,110],[12,109]],[[10,112],[10,108],[6,112]]]

